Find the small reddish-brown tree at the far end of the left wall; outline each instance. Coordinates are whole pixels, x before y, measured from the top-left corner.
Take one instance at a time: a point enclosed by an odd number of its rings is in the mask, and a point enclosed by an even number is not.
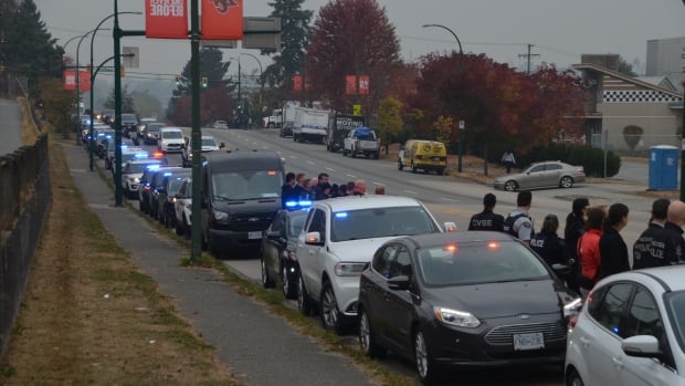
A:
[[[45,118],[51,122],[64,138],[73,131],[72,112],[76,93],[64,90],[62,81],[45,77],[40,82],[41,100],[45,106]]]

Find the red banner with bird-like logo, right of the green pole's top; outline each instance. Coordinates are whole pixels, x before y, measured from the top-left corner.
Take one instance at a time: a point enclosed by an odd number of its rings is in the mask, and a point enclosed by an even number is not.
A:
[[[201,39],[242,40],[243,0],[201,0]]]

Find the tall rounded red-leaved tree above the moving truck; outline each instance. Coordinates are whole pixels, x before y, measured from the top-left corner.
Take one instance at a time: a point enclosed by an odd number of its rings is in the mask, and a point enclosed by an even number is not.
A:
[[[394,27],[376,0],[331,0],[319,10],[307,46],[310,94],[344,112],[351,112],[359,102],[368,115],[386,96],[389,74],[400,63],[399,52]],[[345,94],[345,76],[354,76],[357,70],[369,76],[369,95]]]

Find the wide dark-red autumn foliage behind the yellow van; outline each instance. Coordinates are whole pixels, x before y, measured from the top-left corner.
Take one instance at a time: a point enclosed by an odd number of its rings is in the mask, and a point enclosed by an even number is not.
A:
[[[581,132],[580,121],[570,118],[582,112],[575,81],[571,72],[554,66],[527,75],[484,54],[464,55],[463,62],[457,53],[430,54],[412,98],[412,107],[424,113],[417,132],[434,136],[439,117],[451,116],[465,122],[464,148],[473,154],[492,160],[491,154],[507,147],[525,152]]]

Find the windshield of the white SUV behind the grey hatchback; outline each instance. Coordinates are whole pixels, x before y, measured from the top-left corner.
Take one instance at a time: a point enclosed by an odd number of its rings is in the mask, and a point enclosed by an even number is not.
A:
[[[371,208],[335,213],[331,241],[383,238],[439,232],[423,207]]]

